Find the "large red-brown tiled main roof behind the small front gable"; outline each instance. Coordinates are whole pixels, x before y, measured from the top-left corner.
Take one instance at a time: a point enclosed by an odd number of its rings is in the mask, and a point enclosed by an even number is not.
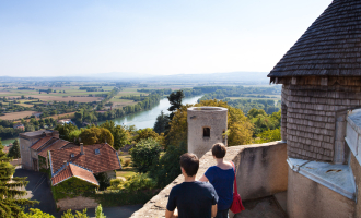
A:
[[[95,149],[100,149],[98,155]],[[51,173],[56,173],[65,161],[90,169],[93,173],[121,169],[117,152],[108,144],[85,145],[84,155],[80,155],[79,146],[50,150],[50,159]]]

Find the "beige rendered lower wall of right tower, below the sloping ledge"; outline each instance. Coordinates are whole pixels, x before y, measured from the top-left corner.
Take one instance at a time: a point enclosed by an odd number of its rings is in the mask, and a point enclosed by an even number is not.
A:
[[[289,169],[287,213],[290,218],[352,218],[354,202]],[[356,217],[354,217],[356,218]]]

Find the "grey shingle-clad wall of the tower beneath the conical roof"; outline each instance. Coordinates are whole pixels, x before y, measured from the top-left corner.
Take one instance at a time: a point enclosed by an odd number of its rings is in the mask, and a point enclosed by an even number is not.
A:
[[[282,136],[293,158],[346,162],[346,110],[361,107],[361,82],[347,77],[282,78]],[[284,114],[282,113],[282,117]]]

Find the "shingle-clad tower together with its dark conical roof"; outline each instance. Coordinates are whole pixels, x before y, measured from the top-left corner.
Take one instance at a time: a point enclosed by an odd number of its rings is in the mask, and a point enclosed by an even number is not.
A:
[[[268,74],[282,86],[288,156],[347,162],[348,110],[361,107],[361,1],[334,0]]]

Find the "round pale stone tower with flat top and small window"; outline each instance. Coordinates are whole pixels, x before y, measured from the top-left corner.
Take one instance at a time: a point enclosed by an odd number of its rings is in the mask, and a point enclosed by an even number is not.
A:
[[[188,152],[200,158],[216,143],[226,145],[226,108],[193,107],[187,109]]]

